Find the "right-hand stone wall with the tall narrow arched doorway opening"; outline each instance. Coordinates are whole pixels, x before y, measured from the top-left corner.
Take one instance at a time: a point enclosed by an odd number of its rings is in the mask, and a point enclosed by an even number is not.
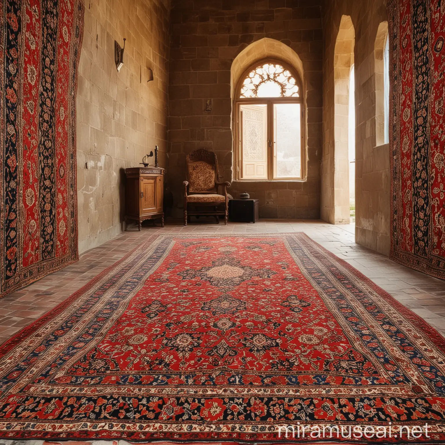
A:
[[[350,16],[355,30],[354,66],[356,101],[356,242],[388,255],[390,246],[390,177],[389,147],[376,143],[376,125],[381,111],[377,107],[376,89],[380,68],[375,69],[376,37],[381,22],[387,21],[384,0],[332,0],[324,7],[323,61],[323,159],[321,174],[321,217],[335,223],[335,172],[338,164],[335,151],[335,73],[334,53],[342,16]],[[381,29],[381,27],[380,27]],[[381,36],[379,35],[379,40]],[[379,63],[377,65],[380,66]],[[376,114],[378,116],[376,121]],[[347,131],[347,129],[346,129]],[[379,138],[380,139],[380,138]],[[378,141],[381,143],[381,140]]]

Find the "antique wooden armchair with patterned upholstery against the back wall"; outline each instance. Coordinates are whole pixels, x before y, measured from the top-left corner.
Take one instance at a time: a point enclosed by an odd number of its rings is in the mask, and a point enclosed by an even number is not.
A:
[[[186,178],[184,184],[184,226],[190,216],[224,215],[227,224],[229,198],[227,187],[230,182],[218,182],[218,161],[216,154],[207,150],[195,150],[186,158]],[[218,194],[222,187],[223,193]]]

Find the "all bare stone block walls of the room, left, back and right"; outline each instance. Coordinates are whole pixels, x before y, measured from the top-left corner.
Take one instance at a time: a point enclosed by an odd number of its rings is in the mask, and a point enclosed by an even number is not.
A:
[[[186,154],[206,148],[218,156],[221,179],[232,181],[231,194],[247,191],[260,200],[261,218],[319,218],[321,208],[321,217],[335,223],[334,53],[346,15],[355,33],[356,240],[387,254],[389,153],[377,145],[376,131],[383,3],[332,0],[322,18],[321,0],[173,0],[171,12],[169,0],[87,1],[77,95],[80,251],[120,233],[123,169],[137,166],[155,144],[173,216],[182,212]],[[125,65],[117,73],[114,40],[124,37]],[[268,43],[253,45],[260,41]],[[255,57],[301,64],[294,66],[307,106],[305,181],[233,182],[233,67],[239,73],[240,58]]]

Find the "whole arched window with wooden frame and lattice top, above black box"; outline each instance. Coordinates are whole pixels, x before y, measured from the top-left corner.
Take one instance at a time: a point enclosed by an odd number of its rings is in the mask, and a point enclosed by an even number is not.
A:
[[[303,94],[295,71],[279,61],[258,62],[237,91],[236,178],[303,178]]]

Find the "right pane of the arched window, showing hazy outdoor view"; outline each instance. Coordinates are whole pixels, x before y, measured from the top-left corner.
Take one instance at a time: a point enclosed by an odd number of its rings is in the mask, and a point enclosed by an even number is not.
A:
[[[274,178],[301,178],[300,104],[274,104]]]

